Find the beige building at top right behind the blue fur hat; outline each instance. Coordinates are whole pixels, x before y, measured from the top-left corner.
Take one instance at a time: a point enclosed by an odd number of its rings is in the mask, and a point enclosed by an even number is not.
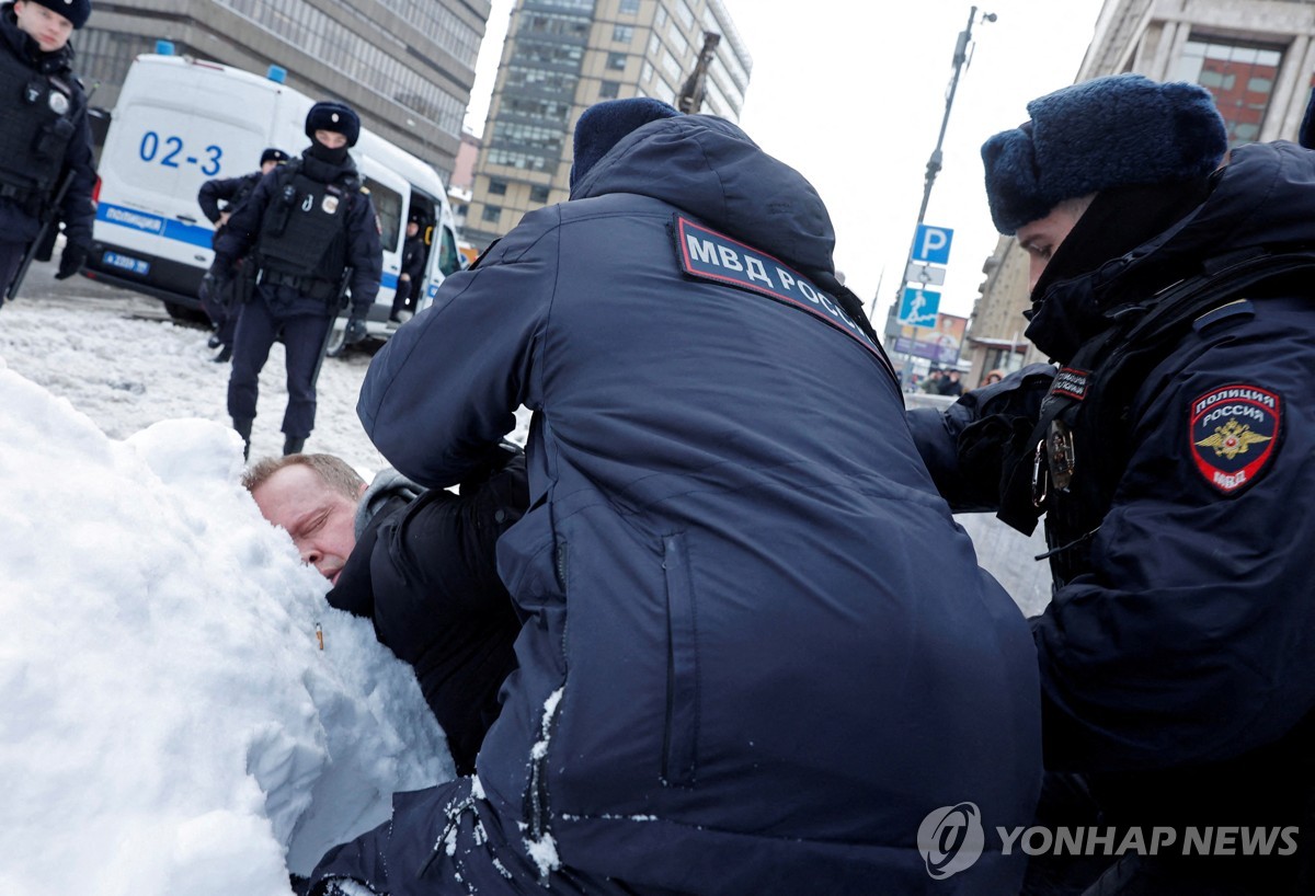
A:
[[[1208,89],[1232,146],[1297,139],[1315,83],[1315,3],[1107,0],[1077,80],[1126,71]],[[1027,254],[1007,238],[993,259],[968,336],[973,374],[1039,357],[1030,346],[999,351],[1030,305]]]

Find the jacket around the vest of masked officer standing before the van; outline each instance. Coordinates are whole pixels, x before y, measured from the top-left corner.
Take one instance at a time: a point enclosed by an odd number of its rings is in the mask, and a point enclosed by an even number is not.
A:
[[[341,166],[331,166],[302,152],[300,159],[301,171],[312,180],[323,184],[342,184],[356,177],[356,164],[347,156]],[[229,223],[216,238],[214,258],[221,265],[231,268],[237,260],[246,256],[256,244],[260,235],[260,222],[270,201],[281,189],[281,177],[285,173],[283,166],[275,168],[260,179],[255,189],[247,196],[241,206],[234,209]],[[375,205],[368,194],[358,193],[351,197],[347,208],[347,264],[351,267],[351,313],[364,317],[370,306],[375,303],[379,294],[379,281],[384,271],[384,256],[379,243],[379,221],[375,217]],[[279,290],[279,296],[288,296],[292,290]],[[271,292],[271,294],[275,294]],[[283,315],[288,314],[337,314],[337,309],[326,305],[323,300],[301,296],[293,298],[291,309],[281,309]]]

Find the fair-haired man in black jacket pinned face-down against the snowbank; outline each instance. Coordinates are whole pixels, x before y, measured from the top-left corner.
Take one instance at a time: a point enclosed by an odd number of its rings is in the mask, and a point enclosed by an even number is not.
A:
[[[515,667],[521,621],[493,550],[529,503],[525,455],[490,452],[460,495],[396,470],[366,485],[333,455],[268,457],[242,483],[333,582],[329,604],[371,619],[380,644],[412,665],[458,774],[471,774]]]

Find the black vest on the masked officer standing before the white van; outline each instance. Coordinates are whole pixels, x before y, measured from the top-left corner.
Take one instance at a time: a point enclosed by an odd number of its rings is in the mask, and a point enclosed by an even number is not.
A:
[[[323,184],[289,163],[260,221],[256,252],[263,273],[276,280],[313,281],[337,286],[347,267],[347,212],[358,181]],[[292,284],[296,285],[296,284]]]

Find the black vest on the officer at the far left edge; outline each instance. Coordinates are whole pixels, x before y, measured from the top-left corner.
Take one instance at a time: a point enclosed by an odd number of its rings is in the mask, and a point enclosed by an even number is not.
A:
[[[50,201],[72,139],[76,87],[0,50],[0,196],[38,214]]]

